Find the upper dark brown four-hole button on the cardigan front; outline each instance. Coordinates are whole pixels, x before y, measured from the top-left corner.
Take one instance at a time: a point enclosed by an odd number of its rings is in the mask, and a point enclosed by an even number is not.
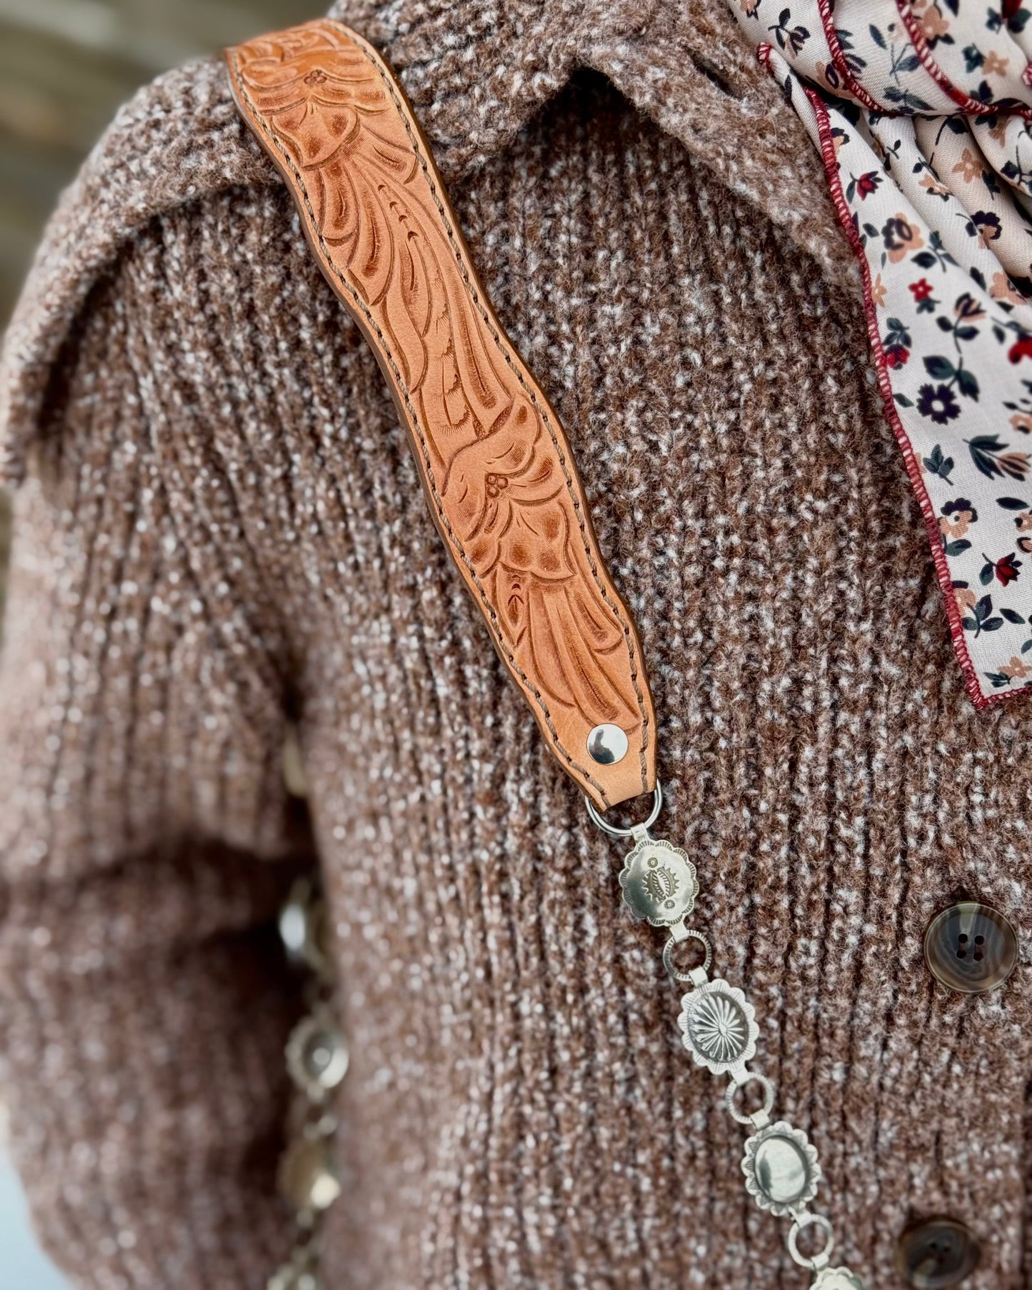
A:
[[[962,995],[983,995],[1014,971],[1018,933],[992,906],[962,900],[928,925],[925,962],[943,986]]]

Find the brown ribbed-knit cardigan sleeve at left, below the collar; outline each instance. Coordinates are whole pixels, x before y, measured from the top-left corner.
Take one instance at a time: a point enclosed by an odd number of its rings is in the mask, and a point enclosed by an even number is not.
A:
[[[311,841],[270,592],[231,484],[182,453],[200,432],[148,348],[155,307],[132,253],[93,289],[15,498],[0,1073],[75,1284],[258,1290],[292,1237],[275,913]]]

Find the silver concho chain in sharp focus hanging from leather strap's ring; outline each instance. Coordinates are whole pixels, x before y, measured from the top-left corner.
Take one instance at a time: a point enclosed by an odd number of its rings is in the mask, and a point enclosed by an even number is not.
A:
[[[633,838],[619,876],[623,903],[635,918],[654,928],[666,928],[670,933],[663,946],[663,965],[676,984],[689,987],[681,997],[681,1015],[677,1018],[681,1042],[695,1066],[728,1077],[726,1108],[734,1120],[752,1129],[742,1157],[746,1191],[761,1210],[774,1218],[791,1218],[788,1253],[800,1267],[813,1272],[811,1290],[864,1290],[855,1272],[831,1265],[835,1249],[831,1222],[810,1209],[822,1176],[817,1148],[801,1129],[787,1120],[771,1118],[774,1085],[765,1075],[749,1069],[760,1035],[756,1010],[737,986],[710,975],[713,957],[710,938],[686,925],[695,908],[699,884],[688,854],[649,832],[663,808],[659,786],[649,818],[632,828],[610,824],[590,799],[586,801],[588,814],[599,828],[610,837]],[[700,966],[684,971],[676,966],[675,953],[689,940],[699,943],[703,961]],[[757,1086],[762,1094],[761,1106],[752,1112],[739,1107],[739,1094],[747,1085]],[[800,1237],[813,1228],[823,1233],[823,1249],[818,1254],[802,1254]]]

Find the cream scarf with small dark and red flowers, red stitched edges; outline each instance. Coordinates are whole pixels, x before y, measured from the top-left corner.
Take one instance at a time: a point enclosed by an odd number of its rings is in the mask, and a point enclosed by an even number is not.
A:
[[[733,0],[820,150],[977,707],[1032,684],[1032,10]]]

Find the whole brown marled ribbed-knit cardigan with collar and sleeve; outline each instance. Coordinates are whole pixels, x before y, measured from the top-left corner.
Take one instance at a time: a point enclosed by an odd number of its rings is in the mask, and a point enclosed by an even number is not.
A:
[[[1027,956],[961,998],[921,933],[969,894],[1027,943],[1032,710],[964,694],[833,217],[789,218],[713,150],[742,98],[688,67],[681,6],[485,13],[348,15],[405,68],[569,430],[651,664],[663,832],[756,1002],[757,1064],[875,1285],[934,1210],[986,1242],[969,1285],[1026,1285]],[[663,32],[685,57],[660,103]],[[734,57],[719,75],[765,102]],[[695,95],[724,133],[695,132]],[[799,157],[780,192],[818,194]],[[657,934],[619,908],[619,853],[507,685],[215,64],[126,110],[4,379],[32,462],[0,695],[3,1057],[61,1262],[98,1290],[259,1290],[289,1240],[293,1000],[267,939],[288,875],[241,853],[298,850],[297,710],[353,1047],[329,1286],[802,1286],[680,1049]]]

